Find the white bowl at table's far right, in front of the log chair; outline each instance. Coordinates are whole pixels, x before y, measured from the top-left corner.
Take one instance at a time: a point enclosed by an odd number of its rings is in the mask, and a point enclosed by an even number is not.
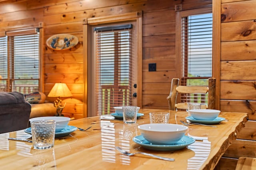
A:
[[[188,110],[188,113],[198,120],[214,120],[220,114],[220,110],[214,109],[192,109]]]

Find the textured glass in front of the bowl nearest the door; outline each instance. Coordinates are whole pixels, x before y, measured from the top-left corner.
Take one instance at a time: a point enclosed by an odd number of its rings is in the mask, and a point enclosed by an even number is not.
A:
[[[123,106],[124,123],[136,123],[137,106]]]

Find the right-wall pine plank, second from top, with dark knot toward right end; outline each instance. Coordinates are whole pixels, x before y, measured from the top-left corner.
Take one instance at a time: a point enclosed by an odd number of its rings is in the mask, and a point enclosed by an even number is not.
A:
[[[221,23],[221,41],[243,41],[256,39],[256,22],[237,21]]]

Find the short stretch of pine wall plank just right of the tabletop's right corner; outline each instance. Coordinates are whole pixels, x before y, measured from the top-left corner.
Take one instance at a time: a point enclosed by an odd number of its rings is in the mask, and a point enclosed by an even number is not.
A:
[[[256,141],[256,121],[247,121],[245,123],[244,129],[242,129],[237,139],[247,139],[247,140],[253,140]]]

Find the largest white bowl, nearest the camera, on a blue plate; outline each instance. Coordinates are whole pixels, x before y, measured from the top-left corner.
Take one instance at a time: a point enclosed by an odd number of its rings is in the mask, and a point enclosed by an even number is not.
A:
[[[188,127],[170,123],[153,123],[139,125],[141,135],[154,145],[170,145],[178,142]]]

